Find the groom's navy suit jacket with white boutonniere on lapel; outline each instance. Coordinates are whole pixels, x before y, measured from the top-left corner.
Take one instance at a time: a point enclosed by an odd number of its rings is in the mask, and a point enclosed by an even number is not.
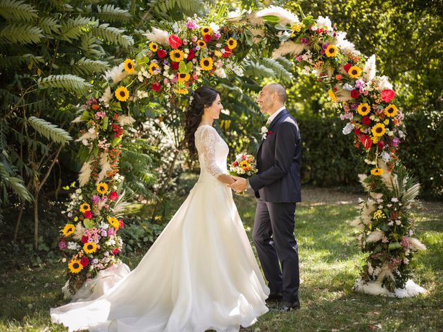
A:
[[[265,202],[300,202],[301,159],[298,124],[284,109],[271,122],[266,139],[258,147],[258,173],[249,178],[255,196]]]

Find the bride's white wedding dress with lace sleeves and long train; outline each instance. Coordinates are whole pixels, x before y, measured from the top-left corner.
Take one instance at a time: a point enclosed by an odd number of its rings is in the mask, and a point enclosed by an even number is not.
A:
[[[104,295],[51,309],[69,331],[239,331],[269,295],[226,173],[228,146],[213,127],[195,132],[201,173],[140,264]]]

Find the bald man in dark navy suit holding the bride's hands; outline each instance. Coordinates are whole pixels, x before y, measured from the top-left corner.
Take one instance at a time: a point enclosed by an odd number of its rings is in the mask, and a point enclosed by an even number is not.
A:
[[[257,103],[269,119],[268,131],[257,151],[258,174],[235,178],[230,185],[235,191],[252,188],[258,199],[253,240],[269,282],[268,300],[278,300],[282,311],[300,308],[298,248],[293,229],[296,203],[301,201],[302,142],[296,120],[284,107],[286,100],[281,84],[267,84],[260,91]]]

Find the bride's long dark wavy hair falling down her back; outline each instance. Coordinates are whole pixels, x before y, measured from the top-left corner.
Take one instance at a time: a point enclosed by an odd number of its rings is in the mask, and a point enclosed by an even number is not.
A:
[[[219,91],[210,86],[200,86],[199,89],[195,90],[192,94],[192,102],[188,107],[188,111],[186,111],[185,138],[183,140],[191,157],[197,155],[194,133],[199,127],[204,108],[210,107],[219,94]]]

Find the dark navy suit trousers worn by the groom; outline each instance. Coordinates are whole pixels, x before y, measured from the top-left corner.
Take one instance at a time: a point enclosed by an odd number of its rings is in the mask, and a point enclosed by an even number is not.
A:
[[[298,247],[293,233],[296,203],[257,201],[253,240],[271,293],[298,300]]]

